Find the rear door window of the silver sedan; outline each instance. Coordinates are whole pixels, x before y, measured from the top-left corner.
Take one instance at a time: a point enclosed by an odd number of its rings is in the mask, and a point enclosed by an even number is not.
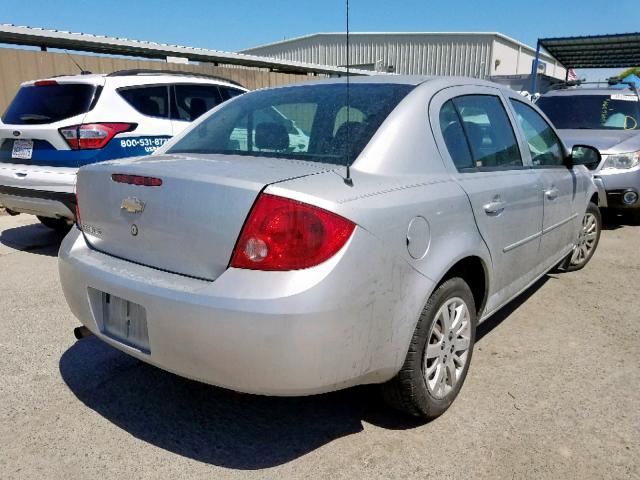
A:
[[[476,168],[521,167],[522,157],[499,97],[463,95],[452,100]]]

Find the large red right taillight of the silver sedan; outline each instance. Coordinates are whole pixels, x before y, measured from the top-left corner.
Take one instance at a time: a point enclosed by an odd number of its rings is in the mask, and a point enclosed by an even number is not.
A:
[[[355,224],[318,207],[261,194],[249,213],[231,257],[231,267],[299,270],[334,256]]]

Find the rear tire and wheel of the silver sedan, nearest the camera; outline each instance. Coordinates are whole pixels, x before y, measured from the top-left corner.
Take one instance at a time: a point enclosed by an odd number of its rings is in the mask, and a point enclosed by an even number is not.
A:
[[[454,327],[454,331],[460,333],[453,335],[457,342],[452,342],[453,332],[449,332],[450,335],[446,334],[446,330],[443,332],[443,315],[451,306],[457,310],[456,306],[462,304],[466,313],[464,310],[460,311],[461,323],[457,328]],[[456,323],[458,318],[454,316],[452,322]],[[394,378],[382,385],[385,401],[402,412],[426,420],[442,415],[458,396],[467,376],[475,344],[476,324],[475,302],[467,283],[458,277],[443,282],[433,292],[420,315],[404,365]],[[445,335],[434,343],[434,340],[438,340],[439,333]],[[428,349],[431,358],[426,358],[425,355],[428,344],[433,345]],[[466,350],[456,350],[456,345],[466,345]],[[455,358],[462,365],[454,361]],[[455,382],[451,381],[451,368],[455,370]],[[440,372],[444,382],[438,381]]]

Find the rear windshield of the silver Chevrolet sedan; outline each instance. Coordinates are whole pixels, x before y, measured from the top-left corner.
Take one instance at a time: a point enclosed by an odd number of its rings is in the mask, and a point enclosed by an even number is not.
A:
[[[167,153],[293,158],[348,165],[411,85],[308,85],[244,94],[223,105]],[[347,103],[349,108],[347,108]]]

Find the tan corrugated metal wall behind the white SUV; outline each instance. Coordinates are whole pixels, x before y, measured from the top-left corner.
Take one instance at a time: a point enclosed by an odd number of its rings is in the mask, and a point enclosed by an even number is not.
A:
[[[219,75],[235,80],[249,89],[284,85],[316,78],[306,74],[275,73],[238,67],[216,67],[211,64],[185,65],[76,53],[72,55],[83,69],[93,73],[110,73],[116,70],[133,68],[180,70]],[[78,73],[78,68],[65,53],[0,48],[0,113],[5,111],[22,82],[53,75],[73,75],[76,73]]]

